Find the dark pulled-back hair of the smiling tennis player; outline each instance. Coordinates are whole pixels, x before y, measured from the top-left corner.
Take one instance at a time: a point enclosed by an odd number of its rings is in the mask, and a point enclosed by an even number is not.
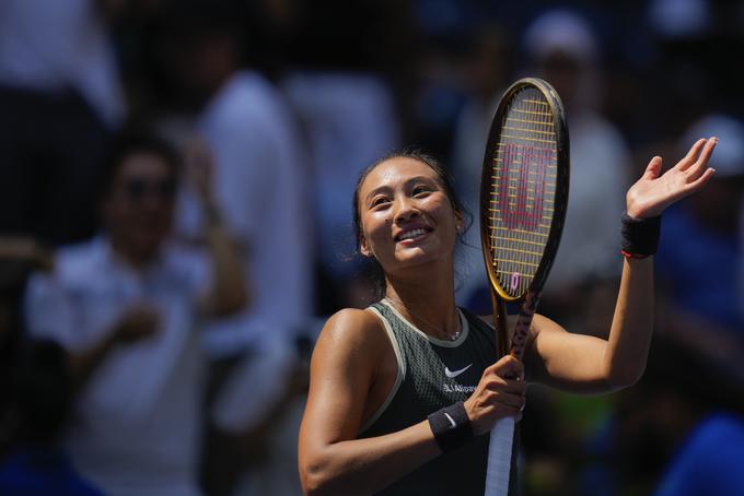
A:
[[[362,184],[364,182],[364,179],[367,179],[367,176],[370,175],[372,170],[374,170],[375,167],[377,167],[380,164],[383,162],[390,161],[392,158],[412,158],[415,161],[418,161],[431,168],[435,174],[437,174],[437,179],[439,180],[439,184],[441,185],[442,189],[444,189],[444,193],[446,194],[447,199],[450,200],[450,204],[452,205],[452,209],[455,212],[460,212],[463,215],[464,222],[465,222],[465,227],[457,233],[457,246],[464,244],[463,241],[463,235],[467,231],[467,228],[470,226],[472,223],[472,214],[470,212],[465,208],[465,205],[460,201],[457,198],[457,194],[455,193],[455,187],[454,187],[454,179],[452,176],[449,174],[447,169],[442,165],[441,162],[439,162],[437,158],[428,154],[427,152],[422,151],[421,149],[418,147],[406,147],[403,150],[397,150],[394,152],[391,152],[386,155],[384,155],[382,158],[373,162],[370,164],[364,170],[362,170],[361,175],[359,176],[359,180],[357,181],[357,186],[353,190],[353,200],[352,200],[352,205],[351,205],[351,211],[352,211],[352,225],[353,225],[353,234],[357,243],[357,251],[359,251],[359,245],[361,241],[361,236],[362,236],[362,225],[361,225],[361,215],[359,211],[359,190],[362,187]],[[382,270],[382,267],[380,267],[380,263],[376,260],[371,261],[371,267],[369,268],[369,272],[371,272],[371,276],[375,282],[375,297],[379,299],[385,295],[385,277],[384,277],[384,272]]]

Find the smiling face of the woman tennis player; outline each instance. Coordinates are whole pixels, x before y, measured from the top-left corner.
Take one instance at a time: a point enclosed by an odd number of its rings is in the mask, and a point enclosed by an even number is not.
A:
[[[410,157],[373,168],[359,189],[360,251],[386,273],[452,258],[462,215],[437,173]]]

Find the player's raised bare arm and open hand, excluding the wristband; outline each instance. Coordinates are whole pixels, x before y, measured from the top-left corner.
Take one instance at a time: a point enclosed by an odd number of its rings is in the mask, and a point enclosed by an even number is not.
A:
[[[628,190],[628,215],[659,216],[666,206],[702,188],[714,172],[708,161],[716,143],[717,138],[699,140],[663,175],[661,157],[653,157]],[[625,257],[607,340],[572,334],[535,316],[525,353],[530,380],[577,392],[606,392],[635,383],[646,368],[653,305],[653,257]]]

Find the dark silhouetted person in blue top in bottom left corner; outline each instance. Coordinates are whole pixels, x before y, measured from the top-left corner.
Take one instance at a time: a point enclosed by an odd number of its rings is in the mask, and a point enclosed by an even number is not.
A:
[[[102,495],[58,446],[72,403],[68,354],[44,340],[25,342],[15,352],[10,401],[0,412],[12,434],[10,451],[0,464],[0,494]]]

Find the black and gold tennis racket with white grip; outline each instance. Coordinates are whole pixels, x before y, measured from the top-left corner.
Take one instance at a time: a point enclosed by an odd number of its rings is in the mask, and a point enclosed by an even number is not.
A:
[[[480,180],[480,239],[499,356],[522,359],[566,217],[569,140],[563,105],[543,80],[512,84],[493,116]],[[520,306],[509,342],[505,303]],[[486,496],[507,495],[514,418],[491,430]]]

